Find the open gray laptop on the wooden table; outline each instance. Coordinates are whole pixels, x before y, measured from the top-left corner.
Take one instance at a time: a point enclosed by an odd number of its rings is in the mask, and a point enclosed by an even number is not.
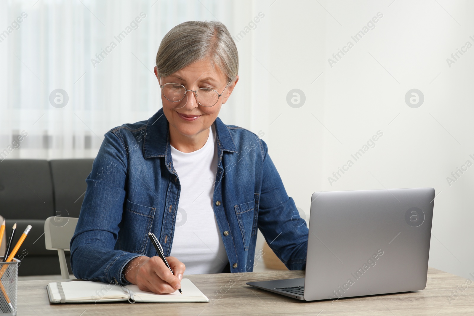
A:
[[[315,192],[305,278],[247,282],[312,301],[425,289],[433,188]]]

